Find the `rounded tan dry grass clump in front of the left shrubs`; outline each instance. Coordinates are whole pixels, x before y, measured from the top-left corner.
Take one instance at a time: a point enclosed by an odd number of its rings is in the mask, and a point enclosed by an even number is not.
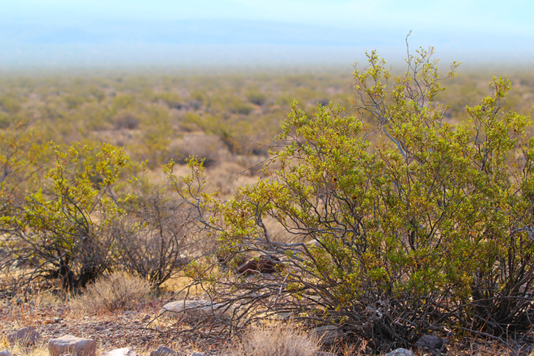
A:
[[[129,310],[146,300],[150,291],[150,283],[141,277],[116,272],[90,284],[75,304],[87,312]]]

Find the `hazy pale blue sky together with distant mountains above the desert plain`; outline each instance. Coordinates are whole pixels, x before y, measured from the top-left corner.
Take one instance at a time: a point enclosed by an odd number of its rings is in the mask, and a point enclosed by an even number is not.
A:
[[[3,0],[0,65],[400,60],[410,30],[446,59],[534,63],[533,14],[534,1]]]

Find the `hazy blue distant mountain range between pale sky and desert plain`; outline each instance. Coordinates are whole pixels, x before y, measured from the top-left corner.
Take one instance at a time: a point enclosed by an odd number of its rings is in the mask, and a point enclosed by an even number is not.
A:
[[[342,29],[245,20],[166,22],[0,23],[0,67],[12,65],[107,65],[129,63],[351,63],[364,50],[402,60],[410,30]],[[436,47],[460,60],[534,61],[532,35],[438,33],[414,29],[412,48]],[[355,54],[359,58],[355,58]],[[206,58],[210,57],[210,58]]]

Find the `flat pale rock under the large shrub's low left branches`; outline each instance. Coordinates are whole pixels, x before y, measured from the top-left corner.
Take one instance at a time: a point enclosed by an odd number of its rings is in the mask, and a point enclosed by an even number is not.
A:
[[[183,321],[194,321],[207,316],[230,316],[233,309],[215,304],[209,300],[177,300],[168,302],[159,310],[159,315],[179,318]]]

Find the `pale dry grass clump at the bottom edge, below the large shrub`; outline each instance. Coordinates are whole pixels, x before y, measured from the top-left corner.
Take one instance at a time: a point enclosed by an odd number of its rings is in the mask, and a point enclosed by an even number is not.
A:
[[[315,356],[319,341],[297,325],[261,325],[252,327],[231,346],[228,356]]]

